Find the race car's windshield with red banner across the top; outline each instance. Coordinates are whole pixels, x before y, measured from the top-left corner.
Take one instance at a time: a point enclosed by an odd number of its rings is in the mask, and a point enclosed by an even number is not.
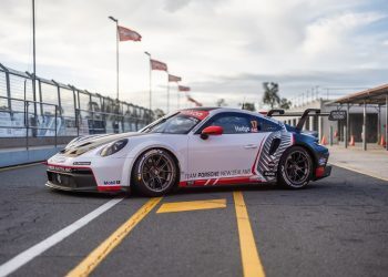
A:
[[[206,113],[207,116],[208,113]],[[141,133],[165,133],[165,134],[187,134],[195,127],[204,117],[198,112],[182,111],[173,114],[170,117],[162,117],[161,120],[151,123],[149,126],[141,130]]]

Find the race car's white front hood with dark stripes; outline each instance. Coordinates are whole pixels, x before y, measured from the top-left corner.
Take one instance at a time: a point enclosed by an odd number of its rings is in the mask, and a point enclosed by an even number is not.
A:
[[[102,135],[88,135],[79,137],[75,141],[70,142],[64,150],[60,153],[64,156],[80,156],[91,150],[94,150],[101,145],[118,141],[120,138],[145,135],[146,133],[122,133],[122,134],[102,134]]]

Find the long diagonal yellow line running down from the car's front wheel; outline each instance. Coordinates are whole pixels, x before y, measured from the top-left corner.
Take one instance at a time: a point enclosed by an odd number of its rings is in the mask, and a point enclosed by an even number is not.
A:
[[[93,269],[125,238],[125,236],[160,203],[162,197],[147,201],[134,215],[121,225],[110,237],[88,255],[67,276],[89,276]]]

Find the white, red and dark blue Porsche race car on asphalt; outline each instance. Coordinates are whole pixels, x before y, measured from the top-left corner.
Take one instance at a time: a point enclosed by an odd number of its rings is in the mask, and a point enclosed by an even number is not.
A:
[[[293,127],[274,120],[274,112],[187,109],[139,132],[81,136],[48,160],[47,185],[86,192],[133,188],[159,196],[176,186],[278,183],[302,188],[328,176],[328,150],[302,131],[304,122]]]

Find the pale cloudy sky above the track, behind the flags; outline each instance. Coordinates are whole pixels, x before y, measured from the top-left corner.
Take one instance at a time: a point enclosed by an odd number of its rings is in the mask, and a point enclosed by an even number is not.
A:
[[[167,63],[204,105],[261,102],[263,82],[292,101],[388,81],[387,0],[35,0],[37,74],[115,96],[115,25],[142,35],[120,42],[120,99],[149,105],[149,58]],[[0,0],[0,62],[32,71],[31,0]],[[152,72],[153,109],[166,111],[167,75]],[[334,89],[334,88],[339,88]],[[170,84],[171,107],[190,106]],[[44,101],[44,100],[43,100]]]

